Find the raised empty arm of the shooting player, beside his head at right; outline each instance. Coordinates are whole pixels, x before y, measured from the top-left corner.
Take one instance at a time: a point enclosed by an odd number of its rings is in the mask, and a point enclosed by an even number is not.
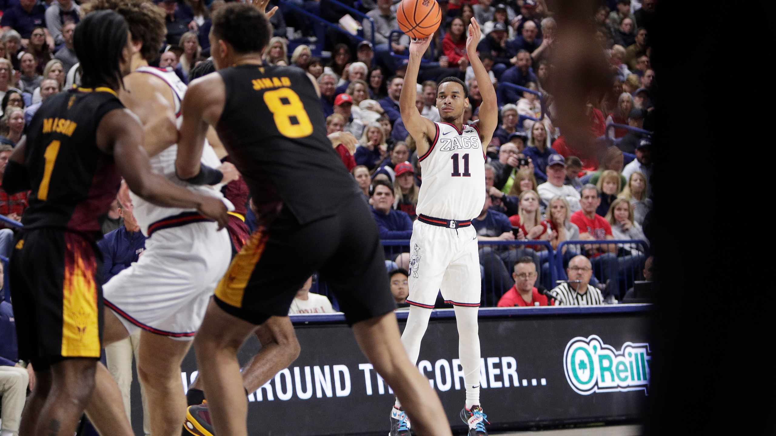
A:
[[[474,77],[477,79],[477,85],[480,86],[480,95],[483,102],[480,104],[480,136],[483,143],[483,149],[487,148],[490,140],[493,139],[493,133],[498,126],[498,102],[496,101],[496,89],[490,76],[485,71],[483,62],[477,56],[477,43],[480,42],[480,24],[472,18],[469,24],[469,36],[466,38],[466,52],[469,54],[469,64],[474,70]]]

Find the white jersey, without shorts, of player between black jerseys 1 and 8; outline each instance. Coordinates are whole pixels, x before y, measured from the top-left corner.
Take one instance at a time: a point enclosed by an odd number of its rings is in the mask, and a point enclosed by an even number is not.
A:
[[[183,100],[183,95],[185,95],[186,92],[186,85],[183,84],[181,79],[178,78],[178,76],[173,71],[162,70],[161,68],[154,67],[140,67],[135,71],[154,74],[154,76],[161,78],[161,80],[165,81],[170,86],[172,89],[173,97],[175,99],[175,117],[177,126],[179,128],[182,121],[181,102]],[[168,180],[175,183],[175,185],[183,186],[187,189],[191,189],[192,191],[200,192],[206,196],[213,196],[223,199],[223,194],[220,192],[222,185],[191,185],[179,179],[175,175],[175,157],[177,154],[178,145],[171,145],[165,151],[162,151],[156,156],[151,157],[151,168],[153,168],[154,172],[164,175],[165,178],[168,178]],[[203,149],[202,153],[202,163],[211,168],[218,168],[221,164],[221,161],[218,158],[216,152],[213,151],[213,147],[210,147],[210,144],[208,144],[207,141],[205,141],[205,148]],[[196,211],[196,209],[155,206],[150,202],[141,199],[139,196],[136,196],[134,192],[131,191],[130,196],[134,206],[133,215],[137,220],[137,224],[140,225],[140,230],[143,231],[145,236],[148,236],[148,226],[157,222],[158,220],[163,220],[168,216],[175,216],[184,212]],[[226,199],[223,199],[222,201],[227,202]],[[229,205],[230,203],[227,202],[227,206]]]

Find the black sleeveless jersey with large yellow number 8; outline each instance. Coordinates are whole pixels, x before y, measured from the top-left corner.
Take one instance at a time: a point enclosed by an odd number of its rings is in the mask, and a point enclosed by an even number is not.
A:
[[[320,99],[303,70],[238,65],[218,72],[226,102],[216,130],[248,183],[262,224],[282,205],[300,224],[309,223],[359,195],[326,137]]]

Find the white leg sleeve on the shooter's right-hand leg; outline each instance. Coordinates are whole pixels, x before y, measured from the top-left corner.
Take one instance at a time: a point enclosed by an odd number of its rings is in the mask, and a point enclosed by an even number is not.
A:
[[[455,306],[458,325],[458,357],[466,383],[466,409],[480,404],[480,330],[477,307]]]

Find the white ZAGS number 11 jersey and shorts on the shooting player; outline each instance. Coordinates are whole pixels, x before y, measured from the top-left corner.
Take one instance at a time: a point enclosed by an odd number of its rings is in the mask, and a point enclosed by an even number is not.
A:
[[[454,306],[480,306],[480,258],[471,222],[485,202],[485,156],[474,126],[435,123],[428,152],[418,158],[423,184],[410,240],[407,303],[432,309],[437,292]]]

